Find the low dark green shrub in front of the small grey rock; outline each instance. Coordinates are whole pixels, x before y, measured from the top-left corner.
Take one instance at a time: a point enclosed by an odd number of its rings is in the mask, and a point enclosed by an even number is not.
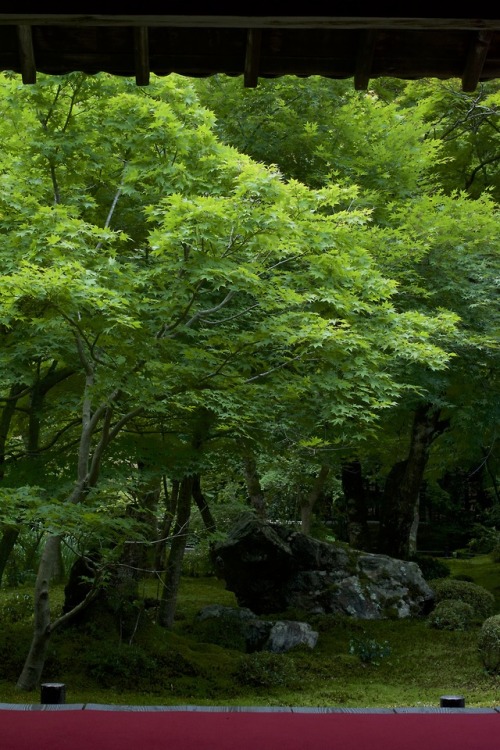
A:
[[[255,651],[241,659],[235,677],[240,685],[251,687],[292,687],[298,681],[298,672],[289,656]]]

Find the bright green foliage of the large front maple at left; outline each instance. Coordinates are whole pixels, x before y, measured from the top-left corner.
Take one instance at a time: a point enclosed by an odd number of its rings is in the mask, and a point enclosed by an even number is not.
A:
[[[201,409],[233,436],[299,405],[304,444],[325,425],[355,434],[398,398],[395,358],[446,366],[435,342],[453,316],[397,311],[356,188],[285,182],[221,145],[189,82],[2,86],[13,498],[19,486],[33,494],[33,474],[51,500],[92,490],[106,504],[137,450],[124,427],[181,436]],[[178,470],[196,461],[179,454]],[[43,516],[72,527],[47,506]]]

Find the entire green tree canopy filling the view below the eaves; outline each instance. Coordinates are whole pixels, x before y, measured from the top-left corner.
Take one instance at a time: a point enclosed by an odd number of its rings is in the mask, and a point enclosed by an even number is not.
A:
[[[162,478],[168,624],[200,476],[298,482],[306,525],[346,463],[396,461],[399,552],[437,438],[493,454],[496,177],[451,188],[443,109],[432,82],[0,78],[0,574],[41,529],[31,657],[70,617],[41,605],[61,542],[157,543]]]

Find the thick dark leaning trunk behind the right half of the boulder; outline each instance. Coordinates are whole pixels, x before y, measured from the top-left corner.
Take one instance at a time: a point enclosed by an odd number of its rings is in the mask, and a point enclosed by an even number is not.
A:
[[[379,552],[397,559],[410,557],[410,532],[433,441],[447,428],[430,404],[414,415],[410,447],[404,461],[394,464],[385,484],[379,527]]]

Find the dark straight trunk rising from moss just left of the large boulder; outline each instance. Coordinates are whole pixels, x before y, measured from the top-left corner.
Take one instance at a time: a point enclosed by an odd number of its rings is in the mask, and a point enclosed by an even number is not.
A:
[[[177,594],[179,592],[179,583],[182,573],[182,563],[184,560],[184,551],[186,549],[189,532],[192,491],[193,478],[184,477],[179,489],[174,534],[170,546],[170,554],[168,556],[160,606],[158,607],[158,624],[168,629],[172,628],[172,625],[174,624]]]

